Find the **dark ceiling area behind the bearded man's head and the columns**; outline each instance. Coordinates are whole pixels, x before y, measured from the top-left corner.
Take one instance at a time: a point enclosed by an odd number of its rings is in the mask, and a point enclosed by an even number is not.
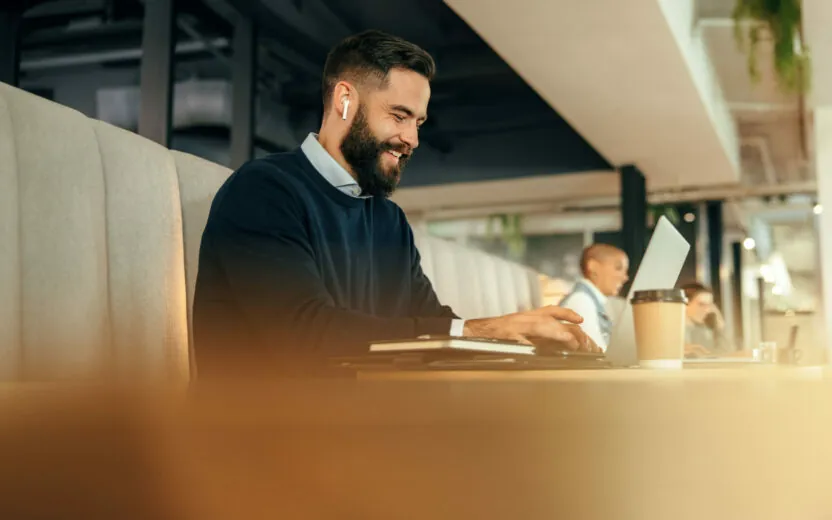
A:
[[[105,77],[130,72],[121,74],[121,84],[107,86],[129,90],[138,85],[132,72],[138,72],[142,56],[144,3],[44,0],[26,11],[21,86],[100,117],[95,100]],[[431,117],[420,132],[423,146],[403,186],[611,170],[442,0],[188,0],[177,5],[178,81],[228,82],[234,21],[239,14],[256,20],[258,97],[272,107],[258,110],[256,118],[264,149],[294,148],[317,130],[328,49],[349,34],[382,29],[429,50],[438,66]],[[185,46],[188,52],[180,49]],[[215,96],[200,110],[225,100]],[[123,104],[124,99],[117,100],[109,112],[124,109]],[[138,109],[135,103],[127,108]],[[279,124],[263,125],[267,119]],[[278,127],[280,132],[266,131]],[[217,148],[214,134],[227,135],[228,125],[187,130],[195,147],[186,151],[204,155],[206,147]],[[177,135],[183,131],[175,128]],[[209,131],[210,136],[202,135],[205,146],[196,146],[200,136],[195,134]]]

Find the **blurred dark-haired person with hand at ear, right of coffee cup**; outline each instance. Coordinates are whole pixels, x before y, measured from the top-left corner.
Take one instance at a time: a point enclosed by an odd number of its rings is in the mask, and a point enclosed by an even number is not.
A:
[[[733,353],[725,337],[725,320],[714,303],[714,294],[705,285],[692,282],[682,286],[688,304],[685,308],[685,355],[687,357],[726,356]]]

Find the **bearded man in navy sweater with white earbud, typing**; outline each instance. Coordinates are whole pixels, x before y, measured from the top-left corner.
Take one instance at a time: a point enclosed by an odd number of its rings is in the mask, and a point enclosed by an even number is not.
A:
[[[200,249],[200,373],[232,358],[314,364],[425,334],[594,348],[565,309],[463,322],[439,303],[405,215],[387,198],[419,146],[434,73],[430,55],[400,38],[347,38],[324,67],[320,132],[222,186]]]

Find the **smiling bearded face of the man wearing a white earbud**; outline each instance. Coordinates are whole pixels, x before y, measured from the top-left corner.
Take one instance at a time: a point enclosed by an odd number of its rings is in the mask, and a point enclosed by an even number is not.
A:
[[[341,153],[365,195],[389,197],[419,146],[430,84],[416,72],[393,69],[386,88],[366,89],[361,99]]]

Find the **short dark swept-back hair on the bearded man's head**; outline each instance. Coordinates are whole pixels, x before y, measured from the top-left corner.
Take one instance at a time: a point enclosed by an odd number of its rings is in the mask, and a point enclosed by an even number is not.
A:
[[[349,36],[329,51],[324,65],[324,110],[335,85],[348,78],[358,83],[376,79],[384,85],[392,69],[417,72],[433,80],[436,64],[424,49],[397,36],[370,30]]]

